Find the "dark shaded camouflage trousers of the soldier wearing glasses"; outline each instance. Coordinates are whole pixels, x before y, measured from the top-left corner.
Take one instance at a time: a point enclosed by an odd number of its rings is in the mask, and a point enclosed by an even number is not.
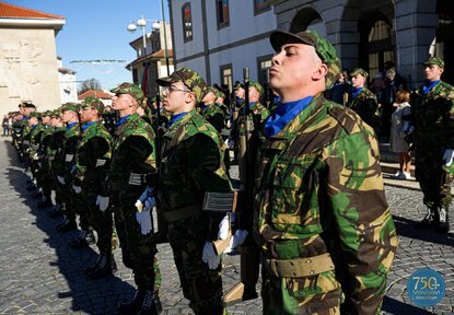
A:
[[[226,314],[222,305],[221,264],[211,270],[201,260],[207,241],[208,223],[201,215],[178,220],[168,224],[175,266],[178,270],[183,294],[189,300],[194,313],[206,315]]]

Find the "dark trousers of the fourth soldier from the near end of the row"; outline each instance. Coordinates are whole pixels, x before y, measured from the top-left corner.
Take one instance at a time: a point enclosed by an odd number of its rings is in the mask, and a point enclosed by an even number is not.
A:
[[[110,256],[114,218],[110,208],[105,211],[100,210],[96,197],[96,191],[91,191],[90,188],[82,185],[82,207],[86,209],[88,225],[96,231],[96,246],[100,253]]]

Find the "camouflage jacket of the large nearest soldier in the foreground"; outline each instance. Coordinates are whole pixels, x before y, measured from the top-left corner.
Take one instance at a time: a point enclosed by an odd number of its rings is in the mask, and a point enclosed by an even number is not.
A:
[[[329,253],[335,271],[296,279],[299,294],[341,288],[351,314],[380,314],[397,238],[373,130],[318,95],[264,140],[257,161],[254,236],[265,258]]]

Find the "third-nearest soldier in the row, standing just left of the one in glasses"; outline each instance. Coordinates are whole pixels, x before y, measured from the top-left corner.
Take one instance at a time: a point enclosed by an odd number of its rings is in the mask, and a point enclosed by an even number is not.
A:
[[[142,90],[132,83],[123,83],[110,90],[115,93],[114,109],[119,114],[114,136],[108,179],[110,199],[100,195],[100,209],[114,206],[115,226],[120,242],[123,261],[132,269],[138,290],[133,300],[121,304],[119,313],[159,314],[162,311],[158,290],[161,273],[155,254],[156,245],[153,231],[142,228],[144,223],[138,215],[135,203],[147,185],[151,184],[147,174],[156,174],[154,132],[149,124],[137,115],[136,110],[143,101]],[[152,185],[153,186],[153,185]],[[151,222],[150,222],[151,221]]]

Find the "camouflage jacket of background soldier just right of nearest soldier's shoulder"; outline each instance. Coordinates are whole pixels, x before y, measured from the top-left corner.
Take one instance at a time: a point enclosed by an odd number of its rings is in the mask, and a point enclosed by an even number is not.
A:
[[[375,132],[379,131],[379,104],[376,101],[376,96],[372,91],[365,88],[362,89],[361,92],[358,93],[357,97],[352,98],[347,104],[347,107],[356,112],[365,124],[368,124],[375,130]]]

